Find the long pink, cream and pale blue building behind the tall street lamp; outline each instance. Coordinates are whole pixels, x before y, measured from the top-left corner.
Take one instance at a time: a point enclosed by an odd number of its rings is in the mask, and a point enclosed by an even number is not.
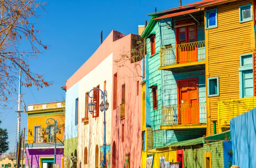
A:
[[[107,166],[129,164],[130,167],[138,167],[141,164],[141,145],[138,148],[138,141],[141,142],[141,59],[131,54],[137,41],[142,41],[138,35],[126,36],[112,31],[66,82],[66,140],[69,135],[75,137],[77,133],[79,167],[102,166],[104,115],[98,107],[101,93],[89,93],[96,87],[108,93]],[[88,103],[93,94],[96,109],[91,115]]]

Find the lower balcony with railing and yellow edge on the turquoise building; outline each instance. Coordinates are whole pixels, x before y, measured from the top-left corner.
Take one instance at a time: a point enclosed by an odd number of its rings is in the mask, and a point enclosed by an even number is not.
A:
[[[206,103],[169,105],[161,108],[161,128],[206,128]]]

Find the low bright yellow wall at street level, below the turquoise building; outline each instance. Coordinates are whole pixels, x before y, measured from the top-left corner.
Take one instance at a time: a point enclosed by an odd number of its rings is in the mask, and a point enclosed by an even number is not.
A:
[[[142,151],[141,154],[141,168],[146,168],[146,162],[147,162],[147,155],[154,153],[154,163],[153,168],[159,168],[160,167],[160,157],[165,158],[165,161],[170,162],[176,162],[176,150],[163,150],[159,151],[156,149]]]

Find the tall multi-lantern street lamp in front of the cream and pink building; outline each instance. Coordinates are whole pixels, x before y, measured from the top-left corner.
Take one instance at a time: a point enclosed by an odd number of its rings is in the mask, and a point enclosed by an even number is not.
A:
[[[103,164],[104,166],[106,166],[106,116],[105,116],[105,112],[106,110],[109,109],[109,102],[107,99],[107,91],[105,90],[104,92],[99,89],[99,88],[93,88],[92,90],[90,90],[90,92],[92,91],[95,91],[95,92],[100,92],[101,93],[101,104],[100,104],[100,110],[101,112],[104,111],[104,161],[103,161]],[[93,111],[94,111],[94,106],[95,104],[93,103],[93,97],[94,97],[94,94],[92,94],[92,96],[90,96],[90,92],[88,94],[88,96],[91,98],[90,100],[90,103],[88,104],[88,109],[89,109],[89,112],[90,114],[93,114]]]

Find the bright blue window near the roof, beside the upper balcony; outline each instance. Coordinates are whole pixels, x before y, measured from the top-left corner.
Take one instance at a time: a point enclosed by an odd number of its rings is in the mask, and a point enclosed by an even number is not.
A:
[[[205,28],[216,28],[218,27],[217,22],[217,8],[205,11]]]

